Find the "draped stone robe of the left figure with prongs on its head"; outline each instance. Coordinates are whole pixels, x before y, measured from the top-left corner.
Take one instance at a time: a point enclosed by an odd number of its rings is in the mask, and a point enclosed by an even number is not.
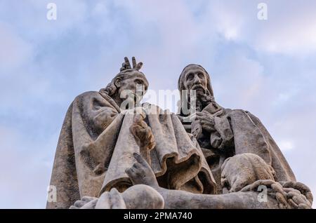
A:
[[[216,183],[199,144],[187,134],[175,114],[148,114],[156,146],[151,166],[162,187],[213,194]],[[57,202],[46,208],[69,208],[83,196],[98,197],[112,187],[131,187],[126,168],[139,147],[129,130],[133,114],[123,114],[104,89],[83,93],[70,105],[62,124],[51,185]]]

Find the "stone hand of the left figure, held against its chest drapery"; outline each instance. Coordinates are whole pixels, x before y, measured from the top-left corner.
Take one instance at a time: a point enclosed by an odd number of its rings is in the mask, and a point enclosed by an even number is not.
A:
[[[155,146],[154,135],[152,135],[151,128],[147,126],[143,119],[144,116],[142,114],[135,114],[130,130],[140,147],[140,155],[145,158],[147,163],[151,163],[150,150]]]

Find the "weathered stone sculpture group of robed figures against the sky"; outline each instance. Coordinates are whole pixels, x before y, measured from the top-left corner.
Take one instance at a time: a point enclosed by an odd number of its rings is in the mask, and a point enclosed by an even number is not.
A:
[[[177,116],[140,104],[143,64],[124,60],[106,88],[70,105],[47,208],[311,208],[268,130],[250,112],[220,107],[203,67],[183,69]]]

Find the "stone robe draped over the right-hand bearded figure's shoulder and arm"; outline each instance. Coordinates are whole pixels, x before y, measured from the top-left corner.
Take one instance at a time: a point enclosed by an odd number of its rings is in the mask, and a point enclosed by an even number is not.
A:
[[[254,114],[242,109],[224,109],[216,102],[208,104],[202,112],[215,116],[215,130],[211,133],[202,131],[197,140],[219,186],[219,194],[220,167],[226,158],[235,154],[251,153],[260,156],[274,168],[277,182],[296,181],[282,151]],[[197,129],[194,129],[195,126]],[[192,124],[192,132],[199,130],[198,127]]]

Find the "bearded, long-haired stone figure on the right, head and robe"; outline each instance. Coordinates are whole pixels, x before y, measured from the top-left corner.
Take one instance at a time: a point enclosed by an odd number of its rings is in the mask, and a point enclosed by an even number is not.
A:
[[[219,186],[218,193],[221,193],[220,166],[235,154],[256,154],[275,169],[275,180],[295,180],[279,147],[256,116],[242,109],[225,109],[216,103],[210,76],[202,66],[187,65],[178,79],[178,89],[181,95],[179,118],[187,121],[184,117],[190,115],[190,122],[183,125],[197,138]],[[193,100],[190,95],[182,94],[182,90],[188,90],[188,94],[196,90],[194,114],[185,114],[183,108],[193,106]]]

